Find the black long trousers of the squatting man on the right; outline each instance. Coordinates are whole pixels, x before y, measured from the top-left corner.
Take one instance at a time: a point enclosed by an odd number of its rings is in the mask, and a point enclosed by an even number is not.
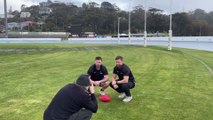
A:
[[[118,88],[115,89],[112,85],[112,82],[111,82],[110,87],[112,89],[116,90],[118,93],[124,92],[126,94],[126,96],[131,96],[130,89],[135,87],[135,83],[134,82],[128,82],[128,83],[124,83],[124,84],[118,84]]]

